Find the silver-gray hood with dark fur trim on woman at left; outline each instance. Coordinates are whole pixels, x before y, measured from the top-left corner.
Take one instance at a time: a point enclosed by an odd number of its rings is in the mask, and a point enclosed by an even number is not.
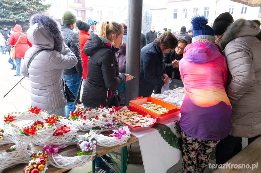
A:
[[[35,47],[59,52],[64,49],[64,37],[58,24],[49,14],[44,12],[38,12],[31,16],[27,37]]]

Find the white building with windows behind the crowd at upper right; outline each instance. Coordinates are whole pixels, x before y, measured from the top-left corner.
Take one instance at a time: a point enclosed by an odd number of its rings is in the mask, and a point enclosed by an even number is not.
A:
[[[155,30],[166,27],[172,31],[180,31],[182,26],[191,28],[191,18],[204,15],[212,26],[215,18],[229,12],[234,20],[261,20],[261,7],[250,7],[230,0],[169,0],[166,8],[152,9],[152,26]]]

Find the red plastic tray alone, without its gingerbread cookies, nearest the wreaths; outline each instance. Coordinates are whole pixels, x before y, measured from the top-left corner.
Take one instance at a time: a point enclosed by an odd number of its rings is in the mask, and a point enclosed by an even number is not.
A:
[[[120,110],[120,109],[122,109],[123,107],[124,107],[124,106],[116,107],[115,110],[116,110],[116,111],[117,111],[117,110]],[[145,115],[148,114],[148,112],[145,112],[144,110],[141,110],[141,109],[139,109],[139,108],[137,108],[137,107],[134,107],[134,106],[127,106],[127,108],[128,108],[129,110],[134,111],[134,112],[137,112],[137,113],[139,113],[140,115],[143,115],[143,116],[145,116]],[[144,125],[135,125],[135,126],[132,126],[132,125],[126,124],[126,123],[124,123],[124,122],[122,122],[122,123],[123,123],[124,125],[127,125],[131,131],[142,131],[142,130],[146,130],[146,129],[148,129],[148,128],[151,128],[152,125],[154,125],[154,124],[156,123],[158,117],[157,117],[157,116],[154,116],[154,115],[151,115],[151,114],[150,114],[150,116],[154,119],[154,121],[152,122],[152,124],[150,124],[150,125],[148,125],[148,126],[144,126]]]

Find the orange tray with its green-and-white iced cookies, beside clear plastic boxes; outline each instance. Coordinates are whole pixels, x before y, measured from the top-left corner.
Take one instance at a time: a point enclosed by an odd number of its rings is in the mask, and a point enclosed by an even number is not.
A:
[[[158,121],[177,116],[180,113],[180,107],[153,97],[137,97],[130,100],[130,105],[157,116]]]

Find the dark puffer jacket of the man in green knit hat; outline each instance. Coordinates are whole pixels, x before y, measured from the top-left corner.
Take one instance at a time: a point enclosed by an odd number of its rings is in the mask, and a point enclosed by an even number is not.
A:
[[[81,58],[80,39],[79,35],[73,32],[72,27],[69,25],[61,25],[61,31],[64,36],[64,42],[71,49],[71,51],[77,57],[77,64],[71,69],[64,69],[64,75],[71,75],[77,73],[79,76],[83,76],[83,61]]]

